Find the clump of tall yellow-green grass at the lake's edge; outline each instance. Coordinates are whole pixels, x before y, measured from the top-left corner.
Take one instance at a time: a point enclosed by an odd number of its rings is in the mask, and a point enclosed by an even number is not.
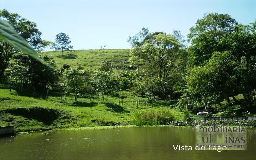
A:
[[[133,125],[167,125],[174,120],[174,115],[168,110],[149,111],[144,113],[136,113],[132,121]]]

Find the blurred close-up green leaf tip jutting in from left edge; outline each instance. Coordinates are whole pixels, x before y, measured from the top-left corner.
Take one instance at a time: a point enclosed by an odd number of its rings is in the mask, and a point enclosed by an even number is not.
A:
[[[42,64],[45,64],[51,68],[52,65],[44,62],[35,52],[35,50],[27,43],[27,41],[20,36],[11,25],[6,21],[0,19],[0,38],[5,42],[9,43],[13,47],[20,49],[23,53],[31,56],[32,58],[38,60]]]

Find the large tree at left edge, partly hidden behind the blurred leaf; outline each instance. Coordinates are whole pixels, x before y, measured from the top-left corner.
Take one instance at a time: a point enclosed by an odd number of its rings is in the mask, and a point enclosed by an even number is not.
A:
[[[42,39],[40,37],[42,33],[37,29],[35,22],[28,21],[19,14],[10,13],[5,9],[0,11],[0,18],[7,21],[34,49],[38,50],[39,46],[42,48]],[[18,52],[20,52],[19,49],[0,39],[0,80],[9,65],[12,55]]]

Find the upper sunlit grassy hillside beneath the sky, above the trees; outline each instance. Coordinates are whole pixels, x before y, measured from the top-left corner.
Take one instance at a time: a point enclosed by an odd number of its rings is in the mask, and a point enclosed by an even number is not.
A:
[[[111,64],[122,63],[129,68],[128,59],[130,57],[130,49],[104,49],[104,50],[72,50],[43,52],[55,57],[57,67],[68,63],[71,67],[82,66],[84,69],[98,69],[103,60],[109,61]]]

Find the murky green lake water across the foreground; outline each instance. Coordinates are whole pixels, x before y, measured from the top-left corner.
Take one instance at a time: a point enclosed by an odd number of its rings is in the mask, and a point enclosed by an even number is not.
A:
[[[0,138],[0,159],[254,159],[256,129],[247,129],[246,151],[196,151],[195,130],[133,127],[54,130]],[[90,139],[87,139],[90,138]],[[48,139],[48,140],[47,140]],[[192,146],[175,151],[173,145]]]

